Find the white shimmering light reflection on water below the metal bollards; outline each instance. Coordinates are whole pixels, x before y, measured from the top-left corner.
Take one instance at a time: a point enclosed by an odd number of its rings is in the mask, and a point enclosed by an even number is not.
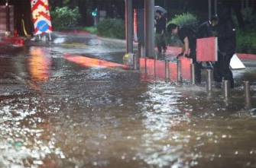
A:
[[[141,137],[142,148],[139,147],[137,157],[157,167],[173,163],[173,167],[178,167],[180,163],[176,162],[182,156],[183,143],[190,141],[190,135],[174,130],[176,127],[186,129],[190,123],[190,113],[179,109],[181,93],[170,84],[154,82],[148,85],[144,97],[147,99],[138,104],[145,116],[146,131]]]

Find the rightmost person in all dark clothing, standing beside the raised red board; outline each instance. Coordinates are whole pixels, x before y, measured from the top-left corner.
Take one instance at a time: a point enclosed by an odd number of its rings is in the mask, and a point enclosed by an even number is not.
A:
[[[222,79],[228,80],[230,87],[234,88],[233,74],[229,68],[232,56],[235,54],[235,25],[232,22],[231,8],[228,5],[222,5],[218,9],[218,16],[219,51],[213,76],[217,82],[222,82]]]

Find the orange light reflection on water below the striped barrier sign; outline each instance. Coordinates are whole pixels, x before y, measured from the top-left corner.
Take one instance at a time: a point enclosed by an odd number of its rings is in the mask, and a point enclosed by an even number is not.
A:
[[[47,49],[32,47],[30,49],[31,59],[29,61],[29,71],[32,81],[46,81],[50,77],[49,68],[51,59]]]

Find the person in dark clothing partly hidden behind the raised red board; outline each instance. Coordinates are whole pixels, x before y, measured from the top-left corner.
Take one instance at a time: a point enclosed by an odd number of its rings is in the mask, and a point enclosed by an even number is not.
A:
[[[212,29],[218,24],[218,22],[219,22],[218,17],[214,16],[211,18],[210,21],[206,21],[203,24],[201,24],[197,30],[197,35],[198,35],[197,38],[201,39],[201,38],[213,36]],[[213,68],[213,62],[206,62],[206,65],[207,65],[207,68],[210,68],[210,69]]]

